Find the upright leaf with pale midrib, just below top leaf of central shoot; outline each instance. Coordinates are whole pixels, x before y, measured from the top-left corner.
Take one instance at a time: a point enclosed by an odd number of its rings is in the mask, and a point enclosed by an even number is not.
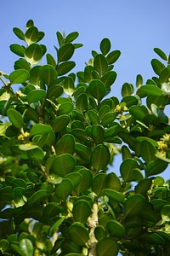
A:
[[[99,75],[103,75],[108,68],[107,60],[104,55],[96,55],[94,58],[94,69],[99,73]]]

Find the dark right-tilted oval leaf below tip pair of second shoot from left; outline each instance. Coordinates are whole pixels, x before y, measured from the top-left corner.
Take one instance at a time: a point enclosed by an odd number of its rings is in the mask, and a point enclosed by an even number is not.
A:
[[[73,44],[63,44],[57,52],[58,62],[70,60],[72,55],[74,54],[74,50],[75,48]]]

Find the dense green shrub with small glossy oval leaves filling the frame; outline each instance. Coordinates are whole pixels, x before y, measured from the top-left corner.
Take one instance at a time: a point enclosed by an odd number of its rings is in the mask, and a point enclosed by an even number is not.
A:
[[[170,58],[154,49],[156,77],[123,84],[119,101],[107,97],[121,54],[108,38],[75,74],[78,32],[56,33],[56,58],[32,20],[14,34],[25,46],[10,45],[20,59],[0,74],[1,255],[170,255],[159,176],[170,162]],[[109,168],[118,153],[120,177]]]

